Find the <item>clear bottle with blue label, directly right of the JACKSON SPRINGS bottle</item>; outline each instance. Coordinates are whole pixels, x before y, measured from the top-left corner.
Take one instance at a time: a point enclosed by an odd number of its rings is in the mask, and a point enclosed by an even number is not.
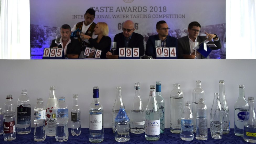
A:
[[[65,97],[60,97],[56,106],[56,141],[63,142],[68,140],[68,105]]]

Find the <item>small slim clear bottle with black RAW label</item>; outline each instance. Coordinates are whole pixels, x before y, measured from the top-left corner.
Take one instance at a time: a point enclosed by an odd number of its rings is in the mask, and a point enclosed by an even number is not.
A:
[[[78,94],[73,94],[73,107],[71,110],[71,134],[81,134],[81,110],[78,106]]]

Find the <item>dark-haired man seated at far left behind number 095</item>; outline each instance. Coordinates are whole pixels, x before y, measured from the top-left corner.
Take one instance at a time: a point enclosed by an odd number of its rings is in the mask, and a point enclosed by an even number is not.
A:
[[[64,24],[60,28],[61,31],[61,44],[59,47],[64,48],[64,55],[67,57],[67,55],[79,55],[81,53],[81,45],[77,39],[70,38],[71,35],[71,28],[69,25]],[[57,44],[55,43],[55,39],[52,40],[52,44],[50,47],[57,47]]]

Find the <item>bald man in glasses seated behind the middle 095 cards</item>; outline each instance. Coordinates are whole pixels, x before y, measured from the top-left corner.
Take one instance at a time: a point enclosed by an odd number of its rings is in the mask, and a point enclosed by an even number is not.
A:
[[[114,41],[116,42],[116,50],[114,52],[115,55],[119,55],[120,47],[138,47],[139,55],[144,55],[144,43],[143,36],[141,34],[135,33],[134,30],[134,22],[131,20],[126,20],[123,24],[122,28],[123,32],[116,34],[114,37]],[[111,52],[107,52],[106,55],[111,55]]]

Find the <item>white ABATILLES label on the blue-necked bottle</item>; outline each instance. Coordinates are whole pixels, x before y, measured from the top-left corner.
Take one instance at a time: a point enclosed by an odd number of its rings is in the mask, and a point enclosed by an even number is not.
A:
[[[90,119],[90,130],[102,130],[102,114],[98,115],[89,115]]]

